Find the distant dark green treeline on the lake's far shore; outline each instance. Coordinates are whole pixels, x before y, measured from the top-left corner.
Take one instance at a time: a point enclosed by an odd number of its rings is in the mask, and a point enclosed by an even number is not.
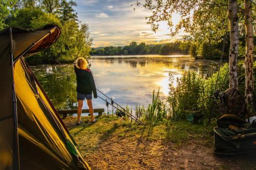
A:
[[[143,54],[188,54],[189,45],[184,41],[175,41],[167,44],[146,45],[144,42],[131,42],[126,46],[105,46],[92,48],[91,55],[143,55]]]

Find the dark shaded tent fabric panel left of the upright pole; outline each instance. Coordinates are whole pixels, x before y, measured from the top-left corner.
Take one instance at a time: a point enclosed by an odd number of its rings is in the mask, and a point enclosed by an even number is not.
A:
[[[0,36],[0,169],[12,165],[13,113],[12,113],[12,67],[10,59],[10,37]],[[4,166],[6,167],[6,166]]]

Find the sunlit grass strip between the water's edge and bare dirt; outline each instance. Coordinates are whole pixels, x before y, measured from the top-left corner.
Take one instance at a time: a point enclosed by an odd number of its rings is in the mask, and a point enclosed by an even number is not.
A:
[[[65,122],[69,122],[66,118]],[[89,121],[89,118],[82,117],[83,122]],[[74,120],[72,120],[74,122]],[[73,125],[73,124],[72,124]],[[206,127],[203,125],[190,124],[185,121],[169,122],[156,126],[130,125],[129,120],[122,120],[117,116],[101,116],[96,124],[82,124],[81,126],[69,126],[71,135],[78,144],[82,155],[94,152],[99,145],[110,137],[122,139],[125,137],[134,137],[136,140],[141,138],[147,141],[162,140],[163,142],[173,142],[176,147],[188,143],[194,139],[199,144],[206,146],[212,145],[212,129],[215,126],[211,124]],[[198,140],[201,139],[201,140]]]

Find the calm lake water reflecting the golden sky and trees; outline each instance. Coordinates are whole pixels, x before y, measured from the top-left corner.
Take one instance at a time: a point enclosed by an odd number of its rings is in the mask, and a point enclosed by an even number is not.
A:
[[[178,55],[97,56],[89,62],[96,87],[121,106],[128,104],[133,108],[138,104],[150,104],[154,89],[160,88],[164,100],[168,94],[169,74],[180,78],[184,71],[195,70],[207,77],[216,71],[218,65],[217,60],[195,60]],[[63,75],[75,80],[73,64],[37,65],[31,69],[57,109],[77,106],[76,83]],[[105,103],[99,98],[93,100],[93,105],[94,108],[105,108]],[[87,108],[87,105],[83,107]]]

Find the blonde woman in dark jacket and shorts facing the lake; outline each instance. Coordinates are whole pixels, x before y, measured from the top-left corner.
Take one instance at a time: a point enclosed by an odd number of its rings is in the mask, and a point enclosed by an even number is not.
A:
[[[75,62],[75,73],[76,73],[76,92],[77,92],[77,122],[76,125],[81,124],[81,113],[83,100],[87,100],[87,105],[89,107],[91,122],[95,123],[96,119],[93,115],[93,104],[92,104],[92,92],[93,96],[97,98],[96,86],[93,79],[92,71],[88,68],[88,61],[82,57],[79,57]]]

